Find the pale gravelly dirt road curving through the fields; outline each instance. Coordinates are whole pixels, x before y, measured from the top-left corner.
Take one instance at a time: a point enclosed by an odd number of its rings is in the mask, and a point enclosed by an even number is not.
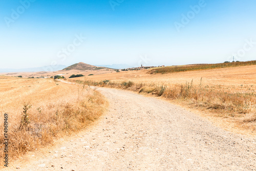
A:
[[[97,124],[10,170],[256,170],[255,137],[156,98],[98,90],[110,109]]]

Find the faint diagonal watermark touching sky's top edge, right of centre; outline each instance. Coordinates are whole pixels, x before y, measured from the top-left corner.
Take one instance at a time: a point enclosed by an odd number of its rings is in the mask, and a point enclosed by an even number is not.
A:
[[[181,20],[180,22],[174,22],[175,28],[178,32],[180,32],[181,28],[184,28],[186,25],[190,23],[192,19],[196,17],[197,14],[200,13],[201,9],[206,7],[206,2],[205,0],[200,0],[198,2],[198,5],[190,5],[189,8],[191,9],[188,11],[186,14],[182,13],[181,14]]]

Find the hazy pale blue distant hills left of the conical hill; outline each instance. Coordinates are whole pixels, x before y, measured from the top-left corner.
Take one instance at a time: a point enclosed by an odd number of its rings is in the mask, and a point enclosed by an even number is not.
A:
[[[0,73],[11,73],[11,72],[41,72],[41,71],[59,71],[67,66],[56,65],[56,66],[44,66],[37,68],[24,68],[24,69],[0,69]]]

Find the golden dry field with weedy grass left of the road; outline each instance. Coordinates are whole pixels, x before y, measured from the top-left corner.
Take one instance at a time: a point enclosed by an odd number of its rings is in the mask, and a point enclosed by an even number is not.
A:
[[[0,96],[0,130],[4,130],[4,114],[9,115],[9,162],[58,137],[83,129],[108,105],[102,95],[87,86],[53,79],[0,76]],[[0,135],[1,163],[3,136]]]

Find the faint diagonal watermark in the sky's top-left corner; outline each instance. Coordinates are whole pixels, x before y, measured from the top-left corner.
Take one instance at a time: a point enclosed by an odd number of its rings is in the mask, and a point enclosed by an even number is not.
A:
[[[11,15],[10,17],[5,16],[4,20],[7,25],[7,27],[10,27],[12,23],[14,23],[20,15],[25,13],[25,11],[31,6],[32,3],[36,2],[36,0],[20,0],[20,6],[18,6],[16,9],[11,9]]]

